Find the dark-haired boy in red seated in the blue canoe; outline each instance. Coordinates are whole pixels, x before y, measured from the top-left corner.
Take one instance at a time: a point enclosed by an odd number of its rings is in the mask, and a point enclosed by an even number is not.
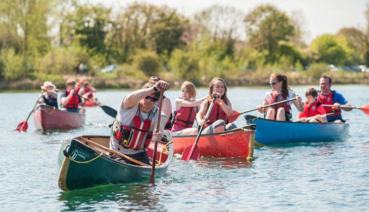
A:
[[[302,122],[307,122],[306,119],[311,118],[309,122],[327,122],[327,117],[321,115],[326,114],[326,111],[321,103],[316,102],[318,92],[314,88],[309,88],[305,92],[306,103],[304,103],[304,112],[300,112],[299,119]]]

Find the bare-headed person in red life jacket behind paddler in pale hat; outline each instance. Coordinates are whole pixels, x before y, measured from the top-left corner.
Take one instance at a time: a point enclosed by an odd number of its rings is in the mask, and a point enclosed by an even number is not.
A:
[[[65,82],[65,86],[66,90],[62,91],[60,98],[63,107],[62,110],[81,114],[85,113],[85,108],[83,106],[85,106],[86,102],[85,99],[82,99],[81,96],[75,92],[76,82],[73,79],[68,79]]]

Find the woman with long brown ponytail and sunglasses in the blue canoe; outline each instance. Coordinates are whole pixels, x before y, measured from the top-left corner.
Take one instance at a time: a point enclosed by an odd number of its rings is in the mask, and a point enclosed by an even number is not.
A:
[[[290,90],[288,87],[287,76],[280,73],[272,73],[270,75],[270,85],[272,86],[272,91],[265,93],[264,105],[273,104],[287,99],[292,99],[296,97],[295,92]],[[297,100],[282,103],[275,106],[270,106],[267,108],[262,108],[262,106],[257,106],[258,111],[264,113],[266,119],[277,120],[277,121],[290,121],[292,118],[291,104],[293,103],[296,108],[302,112],[304,111],[304,105],[301,102],[301,97]]]

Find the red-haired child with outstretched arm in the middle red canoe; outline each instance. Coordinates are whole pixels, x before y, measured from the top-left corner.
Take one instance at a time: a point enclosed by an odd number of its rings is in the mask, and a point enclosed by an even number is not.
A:
[[[181,86],[181,96],[174,101],[174,118],[172,126],[173,136],[194,135],[198,129],[192,127],[200,104],[208,99],[208,96],[196,100],[196,89],[192,82],[184,81]]]

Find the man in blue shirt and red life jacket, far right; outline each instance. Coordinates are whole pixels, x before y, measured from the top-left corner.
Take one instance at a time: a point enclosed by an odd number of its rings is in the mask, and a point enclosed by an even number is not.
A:
[[[328,122],[344,122],[341,115],[341,109],[351,111],[352,108],[339,108],[339,106],[351,106],[347,103],[342,94],[331,90],[332,79],[323,75],[319,79],[320,91],[318,92],[317,102],[322,105],[333,105],[333,107],[324,107],[327,113],[334,112],[334,115],[327,116]]]

